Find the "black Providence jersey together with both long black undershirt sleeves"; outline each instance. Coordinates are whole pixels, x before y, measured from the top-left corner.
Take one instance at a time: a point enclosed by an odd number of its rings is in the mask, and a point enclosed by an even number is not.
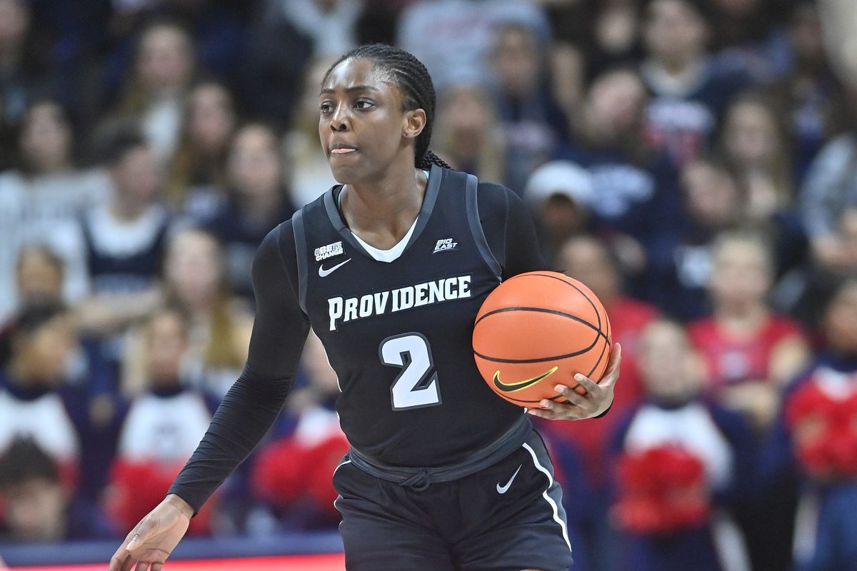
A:
[[[367,460],[456,465],[525,424],[482,380],[470,338],[500,279],[547,269],[521,199],[434,166],[405,251],[386,263],[345,227],[338,193],[281,223],[256,252],[247,364],[170,488],[195,509],[277,418],[310,322],[339,376],[342,427]]]

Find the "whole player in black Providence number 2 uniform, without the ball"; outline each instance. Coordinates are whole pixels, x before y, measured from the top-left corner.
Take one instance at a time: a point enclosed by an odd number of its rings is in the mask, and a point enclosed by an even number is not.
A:
[[[110,571],[160,571],[279,413],[310,325],[339,377],[352,447],[333,474],[347,568],[566,569],[565,513],[541,438],[472,356],[486,295],[546,267],[531,220],[512,192],[428,151],[434,87],[411,54],[358,47],[328,71],[319,103],[321,146],[342,184],[259,247],[247,365]],[[616,346],[600,384],[576,378],[586,396],[560,386],[571,404],[542,401],[534,414],[604,413],[619,361]]]

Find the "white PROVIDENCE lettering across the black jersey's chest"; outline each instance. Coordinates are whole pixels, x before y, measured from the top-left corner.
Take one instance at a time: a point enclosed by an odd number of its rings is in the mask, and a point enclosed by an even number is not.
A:
[[[428,306],[466,297],[470,297],[470,276],[443,277],[434,282],[417,283],[405,288],[357,297],[331,297],[327,299],[330,330],[336,330],[337,322],[345,323],[373,315],[382,315],[387,312],[387,307],[389,312],[393,313],[411,309],[411,307]]]

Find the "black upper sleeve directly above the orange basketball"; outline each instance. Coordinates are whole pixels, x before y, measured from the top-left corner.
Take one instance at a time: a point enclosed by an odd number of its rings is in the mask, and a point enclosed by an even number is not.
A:
[[[503,268],[503,279],[525,271],[548,270],[530,211],[517,194],[491,182],[480,182],[479,219],[488,247]]]

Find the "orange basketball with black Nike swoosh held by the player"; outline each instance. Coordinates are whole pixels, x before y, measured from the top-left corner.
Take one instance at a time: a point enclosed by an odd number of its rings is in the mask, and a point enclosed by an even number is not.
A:
[[[604,374],[612,346],[610,321],[590,288],[555,271],[530,271],[500,283],[482,303],[473,355],[482,378],[506,401],[537,408],[567,402],[557,384],[585,394],[574,375]]]

